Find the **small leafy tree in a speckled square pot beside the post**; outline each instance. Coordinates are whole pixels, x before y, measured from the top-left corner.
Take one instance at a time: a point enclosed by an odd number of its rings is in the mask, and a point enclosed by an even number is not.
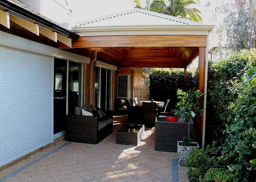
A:
[[[178,162],[185,163],[188,154],[193,148],[198,147],[199,145],[197,142],[192,142],[190,136],[190,128],[191,122],[193,122],[193,118],[195,117],[196,113],[202,115],[203,109],[199,107],[199,98],[202,97],[204,94],[200,92],[200,90],[189,89],[187,92],[182,91],[181,89],[177,90],[177,96],[180,102],[177,103],[178,108],[183,109],[184,112],[181,110],[176,110],[176,115],[180,118],[183,118],[185,122],[188,123],[188,136],[182,138],[182,141],[177,142],[177,155],[178,155]]]

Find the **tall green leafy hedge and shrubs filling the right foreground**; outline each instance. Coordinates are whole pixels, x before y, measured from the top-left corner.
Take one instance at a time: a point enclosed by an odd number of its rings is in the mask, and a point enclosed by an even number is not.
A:
[[[219,143],[221,145],[213,142],[206,151],[190,153],[187,164],[196,167],[196,170],[189,169],[188,176],[194,181],[240,182],[256,179],[256,50],[244,50],[232,56],[246,62],[246,65],[240,65],[236,59],[233,64],[221,61],[219,67],[231,64],[232,69],[236,68],[235,71],[227,69],[236,78],[216,70],[215,74],[230,80],[222,82],[225,86],[216,83],[218,85],[213,88],[219,91],[218,94],[212,90],[219,98],[215,99],[219,101],[223,97],[221,103],[226,104],[226,107],[220,106],[223,113],[216,108],[216,113],[221,115],[219,119],[225,123],[223,141]],[[212,103],[216,100],[211,98]],[[215,104],[218,106],[220,103]]]

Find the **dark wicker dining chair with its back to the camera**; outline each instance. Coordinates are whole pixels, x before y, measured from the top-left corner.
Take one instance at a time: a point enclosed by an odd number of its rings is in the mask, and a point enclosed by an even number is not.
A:
[[[155,102],[142,102],[143,123],[155,126],[157,121],[157,109]]]

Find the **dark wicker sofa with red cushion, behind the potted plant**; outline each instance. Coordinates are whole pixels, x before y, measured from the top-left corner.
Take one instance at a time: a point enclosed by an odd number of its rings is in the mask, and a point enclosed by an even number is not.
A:
[[[177,152],[177,142],[188,136],[188,123],[166,122],[168,113],[161,113],[155,127],[155,150]],[[189,134],[193,140],[195,138],[193,121],[189,123]]]

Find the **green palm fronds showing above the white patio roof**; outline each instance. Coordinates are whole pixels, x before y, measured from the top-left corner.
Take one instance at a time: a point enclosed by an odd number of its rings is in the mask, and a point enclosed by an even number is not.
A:
[[[190,8],[198,0],[146,0],[145,7],[142,7],[140,0],[133,0],[135,8],[146,9],[166,15],[182,17],[192,21],[203,22],[201,12],[196,8]]]

